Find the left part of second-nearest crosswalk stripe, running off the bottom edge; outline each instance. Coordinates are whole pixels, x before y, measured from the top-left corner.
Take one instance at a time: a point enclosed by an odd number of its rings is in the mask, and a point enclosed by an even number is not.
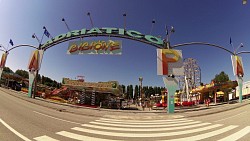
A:
[[[120,141],[120,140],[100,139],[100,138],[95,138],[95,137],[88,137],[88,136],[78,135],[78,134],[74,134],[74,133],[67,132],[67,131],[57,132],[56,134],[64,136],[64,137],[68,137],[71,139],[80,140],[80,141]]]

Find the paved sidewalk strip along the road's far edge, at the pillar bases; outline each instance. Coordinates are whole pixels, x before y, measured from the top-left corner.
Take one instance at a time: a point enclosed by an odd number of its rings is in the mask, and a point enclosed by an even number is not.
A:
[[[57,103],[50,100],[45,100],[42,98],[32,99],[27,96],[27,93],[17,92],[10,89],[5,89],[0,87],[0,91],[7,94],[20,98],[30,103],[34,103],[43,107],[50,109],[55,109],[59,112],[69,112],[85,116],[95,116],[95,117],[110,117],[110,118],[127,118],[127,119],[167,119],[167,118],[181,118],[181,117],[197,117],[209,114],[214,114],[218,112],[223,112],[227,110],[232,110],[250,104],[250,100],[244,100],[242,103],[234,104],[214,104],[211,103],[209,107],[204,104],[200,104],[195,107],[188,108],[176,108],[175,113],[168,114],[167,108],[165,110],[150,110],[145,108],[142,111],[141,107],[139,110],[116,110],[116,109],[103,109],[103,108],[89,108],[76,106],[71,104]]]

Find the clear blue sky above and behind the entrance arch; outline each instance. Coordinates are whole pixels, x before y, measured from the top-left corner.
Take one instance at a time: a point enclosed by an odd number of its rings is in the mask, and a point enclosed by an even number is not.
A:
[[[87,12],[91,13],[95,27],[123,28],[124,12],[127,13],[126,27],[149,34],[151,21],[155,19],[152,35],[165,34],[165,24],[174,26],[171,45],[186,42],[209,42],[229,50],[230,37],[236,48],[250,50],[250,5],[241,0],[0,0],[0,44],[5,47],[10,39],[15,45],[37,46],[33,33],[41,38],[43,26],[52,36],[67,32],[61,19],[64,17],[71,30],[91,28]],[[98,40],[100,38],[85,38]],[[108,40],[109,38],[101,38]],[[116,38],[111,38],[116,40]],[[44,38],[45,42],[47,38]],[[120,84],[164,86],[157,76],[156,48],[127,39],[122,40],[122,55],[68,55],[68,42],[46,50],[40,70],[41,75],[57,81],[62,77],[75,78],[84,75],[86,81],[98,82],[117,80]],[[194,58],[202,71],[202,82],[209,83],[214,76],[225,71],[235,80],[230,54],[208,46],[186,46],[183,58]],[[12,70],[27,70],[32,48],[16,48],[7,58],[6,66]],[[250,54],[241,55],[245,69],[244,81],[250,80]]]

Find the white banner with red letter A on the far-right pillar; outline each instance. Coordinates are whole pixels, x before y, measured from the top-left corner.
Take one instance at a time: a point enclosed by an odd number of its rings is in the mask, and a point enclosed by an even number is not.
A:
[[[231,60],[232,60],[234,75],[243,77],[244,67],[243,67],[242,57],[237,55],[231,55]]]

